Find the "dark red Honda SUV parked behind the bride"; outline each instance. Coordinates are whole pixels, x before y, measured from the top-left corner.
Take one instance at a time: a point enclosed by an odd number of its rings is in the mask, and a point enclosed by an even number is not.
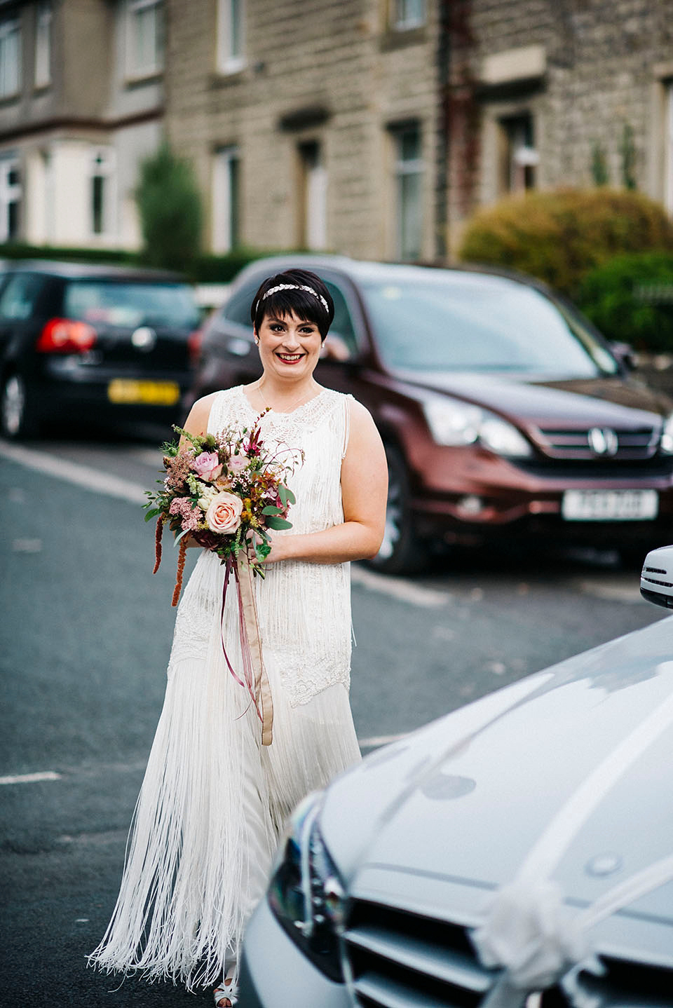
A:
[[[260,374],[250,303],[291,265],[335,302],[315,377],[372,412],[388,454],[386,535],[401,573],[424,548],[543,537],[642,552],[671,540],[673,403],[535,280],[335,256],[258,260],[203,331],[187,405]]]

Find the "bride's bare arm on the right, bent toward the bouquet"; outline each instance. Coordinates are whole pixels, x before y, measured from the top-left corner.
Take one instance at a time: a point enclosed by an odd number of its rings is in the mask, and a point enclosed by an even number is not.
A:
[[[342,463],[343,524],[323,532],[274,535],[266,562],[342,563],[376,555],[383,539],[387,494],[388,467],[381,435],[367,409],[353,401],[351,434]]]

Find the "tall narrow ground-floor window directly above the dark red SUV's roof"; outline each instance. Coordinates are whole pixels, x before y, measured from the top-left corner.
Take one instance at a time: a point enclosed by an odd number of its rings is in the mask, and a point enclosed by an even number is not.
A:
[[[423,158],[420,127],[393,129],[395,143],[396,254],[419,259],[423,243]]]

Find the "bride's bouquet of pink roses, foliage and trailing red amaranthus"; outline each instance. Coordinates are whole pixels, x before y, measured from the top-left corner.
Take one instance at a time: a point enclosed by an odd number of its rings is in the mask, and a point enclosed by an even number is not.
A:
[[[269,530],[292,527],[287,513],[294,495],[287,480],[303,461],[303,453],[267,450],[260,428],[263,415],[252,427],[226,427],[218,434],[191,434],[174,426],[180,440],[163,446],[165,476],[157,480],[159,490],[146,491],[145,520],[157,518],[155,570],[164,523],[180,543],[182,562],[173,605],[184,565],[183,536],[192,535],[223,563],[244,553],[253,571],[264,577],[263,562],[271,550]]]

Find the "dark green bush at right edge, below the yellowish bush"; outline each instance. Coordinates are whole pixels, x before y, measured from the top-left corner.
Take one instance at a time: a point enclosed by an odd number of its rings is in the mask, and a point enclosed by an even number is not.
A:
[[[673,353],[673,252],[616,256],[586,274],[577,303],[610,340]]]

